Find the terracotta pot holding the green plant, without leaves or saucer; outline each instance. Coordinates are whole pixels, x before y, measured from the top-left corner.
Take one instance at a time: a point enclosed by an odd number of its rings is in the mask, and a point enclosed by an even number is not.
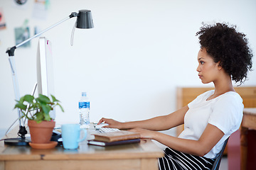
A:
[[[49,143],[50,137],[53,135],[54,121],[42,121],[36,123],[35,120],[28,120],[28,128],[31,134],[32,143]]]

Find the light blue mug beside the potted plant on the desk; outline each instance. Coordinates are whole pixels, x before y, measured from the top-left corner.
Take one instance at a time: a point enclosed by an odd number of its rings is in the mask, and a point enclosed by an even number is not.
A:
[[[84,132],[84,137],[80,139],[80,131]],[[81,129],[78,124],[61,125],[61,136],[63,138],[63,147],[65,149],[77,149],[78,143],[85,140],[87,131]]]

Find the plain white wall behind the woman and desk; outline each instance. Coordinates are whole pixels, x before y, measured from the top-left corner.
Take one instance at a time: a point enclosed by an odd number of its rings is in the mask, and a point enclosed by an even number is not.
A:
[[[7,47],[15,45],[14,28],[25,19],[33,33],[80,9],[90,9],[95,28],[75,30],[72,18],[43,35],[53,44],[55,96],[65,113],[58,110],[57,123],[78,123],[78,100],[82,91],[91,99],[91,120],[102,117],[141,120],[165,115],[176,109],[176,87],[211,86],[198,79],[196,32],[201,23],[229,22],[247,34],[256,51],[256,1],[168,1],[168,0],[73,0],[50,1],[46,21],[33,18],[33,1],[26,9],[13,1],[0,0],[6,30],[0,30],[0,129],[17,118]],[[36,82],[36,48],[15,52],[21,96],[31,94]],[[253,59],[255,63],[255,58]],[[255,67],[254,67],[255,68]],[[244,86],[256,85],[256,72]]]

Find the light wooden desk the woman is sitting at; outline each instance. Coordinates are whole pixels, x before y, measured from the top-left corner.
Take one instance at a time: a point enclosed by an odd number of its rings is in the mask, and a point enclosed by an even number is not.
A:
[[[16,137],[17,129],[6,137]],[[4,137],[4,138],[6,138]],[[90,135],[91,137],[91,135]],[[79,149],[32,149],[0,142],[0,169],[158,169],[157,158],[164,152],[151,140],[139,144],[98,147],[80,143]]]

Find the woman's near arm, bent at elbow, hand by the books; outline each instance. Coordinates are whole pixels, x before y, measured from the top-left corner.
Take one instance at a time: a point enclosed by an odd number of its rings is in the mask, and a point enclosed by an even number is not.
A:
[[[224,135],[220,129],[211,124],[206,126],[206,130],[203,131],[203,134],[199,140],[181,139],[163,134],[161,132],[144,130],[140,128],[135,128],[131,131],[139,132],[142,138],[156,140],[168,147],[171,147],[172,149],[176,149],[187,154],[194,154],[200,157],[203,157],[203,155],[210,152],[210,149],[212,149]]]

